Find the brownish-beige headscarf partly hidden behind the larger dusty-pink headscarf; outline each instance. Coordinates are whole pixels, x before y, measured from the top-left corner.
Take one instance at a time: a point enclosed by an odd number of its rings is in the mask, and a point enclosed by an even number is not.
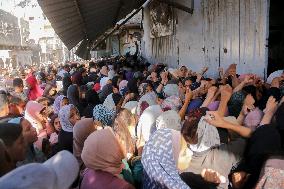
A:
[[[93,118],[82,119],[75,124],[73,128],[73,154],[79,163],[82,163],[81,153],[85,140],[96,130],[97,128],[94,126]]]

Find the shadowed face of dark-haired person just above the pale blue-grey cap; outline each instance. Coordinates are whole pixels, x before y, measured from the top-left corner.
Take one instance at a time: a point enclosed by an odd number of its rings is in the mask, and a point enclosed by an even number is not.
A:
[[[7,148],[10,156],[14,162],[23,161],[26,156],[27,145],[23,134],[17,138],[17,140],[12,144],[12,146]]]

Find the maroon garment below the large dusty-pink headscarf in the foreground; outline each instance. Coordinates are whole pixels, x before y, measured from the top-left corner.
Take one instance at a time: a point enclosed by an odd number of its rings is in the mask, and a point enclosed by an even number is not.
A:
[[[125,180],[108,172],[86,169],[81,183],[81,189],[134,189]]]

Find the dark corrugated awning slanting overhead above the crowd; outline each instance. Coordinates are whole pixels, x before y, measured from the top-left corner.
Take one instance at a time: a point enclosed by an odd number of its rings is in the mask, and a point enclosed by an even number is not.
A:
[[[145,1],[38,0],[38,3],[66,47],[70,50],[82,41],[78,55],[88,59],[85,49]]]

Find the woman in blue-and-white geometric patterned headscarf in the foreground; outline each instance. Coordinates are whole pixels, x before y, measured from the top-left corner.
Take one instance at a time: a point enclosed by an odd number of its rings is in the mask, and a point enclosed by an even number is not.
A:
[[[179,172],[186,169],[190,161],[187,149],[179,131],[156,131],[143,149],[143,188],[189,189],[179,176]]]

